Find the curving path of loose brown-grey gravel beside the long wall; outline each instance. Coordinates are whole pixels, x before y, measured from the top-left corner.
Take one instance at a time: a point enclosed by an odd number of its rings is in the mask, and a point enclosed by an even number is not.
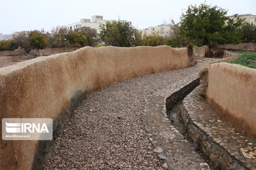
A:
[[[90,94],[55,140],[43,169],[161,169],[141,120],[144,98],[190,77],[202,64],[121,81]]]

